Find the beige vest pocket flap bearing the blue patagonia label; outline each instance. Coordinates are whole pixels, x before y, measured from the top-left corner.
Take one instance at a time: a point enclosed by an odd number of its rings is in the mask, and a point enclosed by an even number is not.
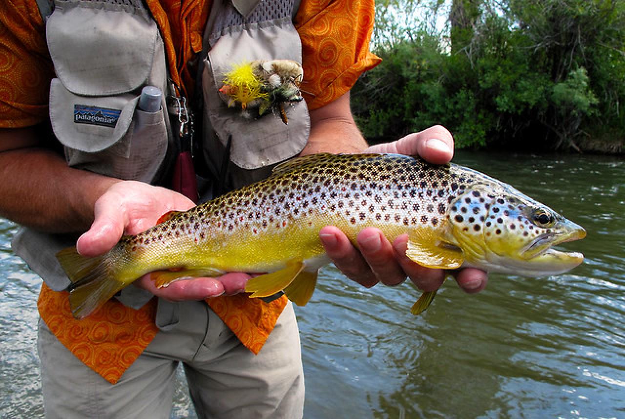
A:
[[[134,94],[78,96],[59,79],[50,84],[50,120],[56,138],[69,148],[97,153],[123,138],[138,102]]]

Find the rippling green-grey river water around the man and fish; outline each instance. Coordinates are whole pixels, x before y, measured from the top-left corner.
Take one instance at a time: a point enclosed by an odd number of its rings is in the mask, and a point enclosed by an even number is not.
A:
[[[625,159],[459,153],[586,228],[584,264],[549,278],[448,281],[421,316],[409,284],[366,290],[332,266],[296,308],[305,418],[625,418]],[[0,417],[42,416],[39,279],[0,219]],[[172,418],[195,418],[179,375]]]

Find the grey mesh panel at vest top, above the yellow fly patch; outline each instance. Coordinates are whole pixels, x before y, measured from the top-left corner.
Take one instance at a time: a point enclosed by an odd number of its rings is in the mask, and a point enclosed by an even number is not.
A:
[[[221,33],[223,29],[230,28],[231,26],[240,26],[244,23],[259,23],[286,18],[287,16],[291,16],[294,3],[294,0],[261,0],[246,19],[245,16],[242,16],[242,14],[232,6],[232,3],[228,2],[221,16],[216,19],[212,33],[218,34]]]

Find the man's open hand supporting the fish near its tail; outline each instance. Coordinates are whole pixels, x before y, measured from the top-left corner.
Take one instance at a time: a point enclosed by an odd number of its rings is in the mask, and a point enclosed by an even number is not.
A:
[[[94,221],[79,238],[76,248],[83,256],[111,250],[122,235],[136,235],[156,225],[169,211],[186,211],[195,204],[169,189],[135,181],[119,181],[104,193],[94,207]],[[222,294],[242,292],[250,278],[246,273],[227,273],[219,278],[194,278],[156,288],[151,274],[134,282],[156,296],[170,301],[203,300]]]

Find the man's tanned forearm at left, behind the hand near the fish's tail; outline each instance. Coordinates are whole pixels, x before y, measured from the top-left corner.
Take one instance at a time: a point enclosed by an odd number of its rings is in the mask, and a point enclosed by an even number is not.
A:
[[[87,230],[95,201],[119,180],[69,168],[34,135],[0,131],[0,216],[54,233]]]

